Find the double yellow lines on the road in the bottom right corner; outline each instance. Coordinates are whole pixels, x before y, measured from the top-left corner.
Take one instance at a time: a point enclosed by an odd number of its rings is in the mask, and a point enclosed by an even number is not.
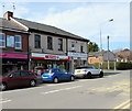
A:
[[[113,108],[112,111],[116,111],[118,109],[122,109],[122,110],[123,109],[130,109],[131,106],[132,106],[132,99],[129,99],[129,100],[122,102],[121,104],[117,106],[116,108]]]

